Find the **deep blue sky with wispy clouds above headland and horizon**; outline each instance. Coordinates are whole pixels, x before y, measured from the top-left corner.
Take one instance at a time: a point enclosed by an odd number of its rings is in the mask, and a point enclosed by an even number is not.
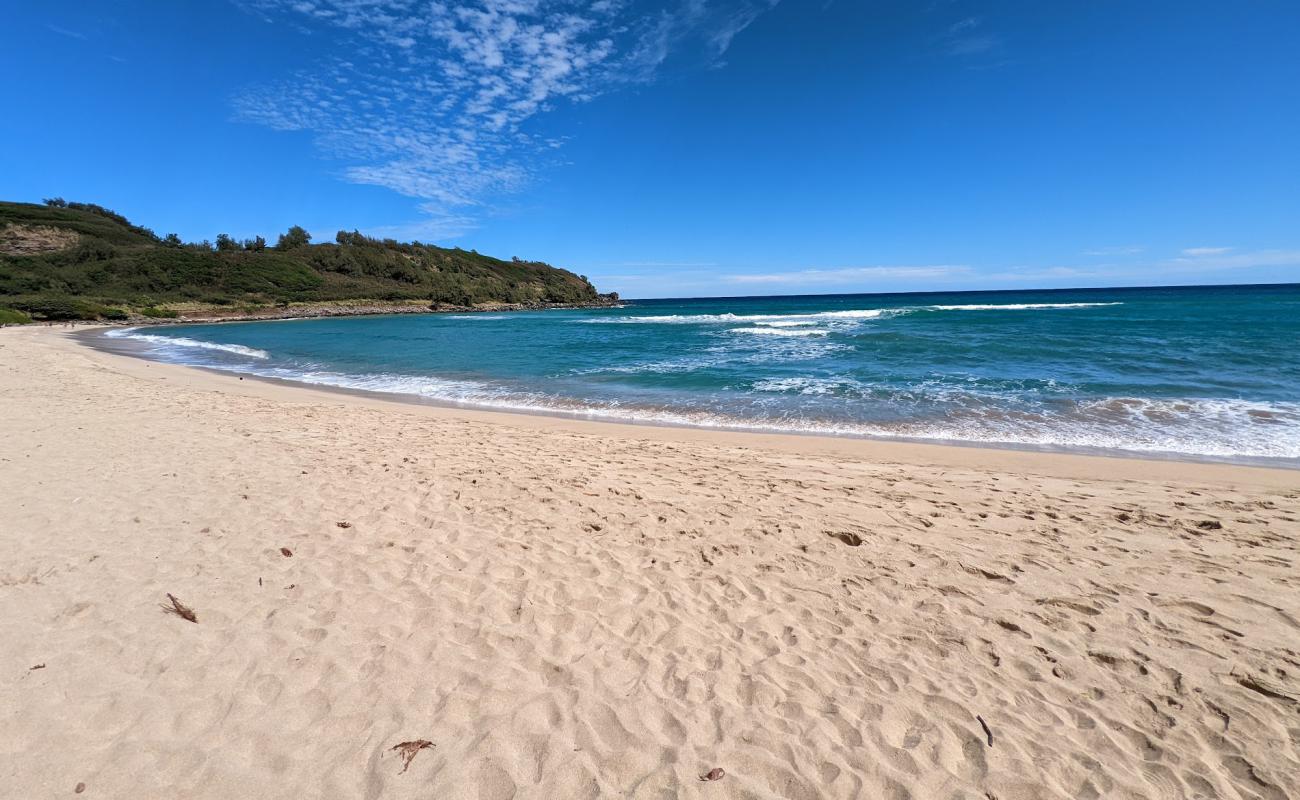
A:
[[[0,198],[628,297],[1300,281],[1300,4],[8,4]]]

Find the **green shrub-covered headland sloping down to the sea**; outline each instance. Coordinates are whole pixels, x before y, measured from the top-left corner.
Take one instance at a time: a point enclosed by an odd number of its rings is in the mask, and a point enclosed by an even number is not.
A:
[[[339,232],[312,245],[291,228],[186,243],[88,203],[0,203],[0,321],[173,317],[179,312],[365,302],[410,308],[602,304],[584,276],[541,261]],[[5,310],[9,310],[5,315]]]

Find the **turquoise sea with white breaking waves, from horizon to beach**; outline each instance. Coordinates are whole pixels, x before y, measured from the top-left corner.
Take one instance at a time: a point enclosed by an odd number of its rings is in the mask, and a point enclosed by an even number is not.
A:
[[[1300,285],[636,300],[108,336],[151,358],[442,403],[1300,466]]]

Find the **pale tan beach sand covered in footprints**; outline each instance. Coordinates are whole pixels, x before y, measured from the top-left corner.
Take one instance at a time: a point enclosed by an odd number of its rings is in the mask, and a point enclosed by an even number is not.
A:
[[[1300,472],[428,408],[48,329],[0,332],[0,441],[3,797],[1300,797]]]

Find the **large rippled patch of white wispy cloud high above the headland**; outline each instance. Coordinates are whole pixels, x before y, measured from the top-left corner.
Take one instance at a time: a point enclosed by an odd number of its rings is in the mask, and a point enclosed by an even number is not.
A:
[[[777,0],[242,0],[270,22],[342,36],[346,57],[234,100],[237,117],[315,134],[347,181],[421,200],[467,229],[528,186],[562,143],[529,130],[559,103],[650,81],[675,48],[719,59]]]

